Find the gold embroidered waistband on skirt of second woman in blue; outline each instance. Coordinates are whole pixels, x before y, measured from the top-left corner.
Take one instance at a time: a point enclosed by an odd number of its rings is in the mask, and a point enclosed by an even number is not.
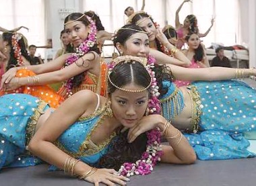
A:
[[[199,131],[199,122],[200,122],[200,115],[202,113],[200,105],[201,105],[201,97],[199,92],[197,91],[197,87],[194,85],[188,85],[187,89],[191,91],[188,92],[191,99],[192,104],[192,115],[191,115],[191,128],[189,132],[197,133]]]

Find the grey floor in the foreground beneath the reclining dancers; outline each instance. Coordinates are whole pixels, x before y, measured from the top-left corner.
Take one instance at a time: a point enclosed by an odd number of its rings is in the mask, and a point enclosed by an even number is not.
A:
[[[256,87],[256,82],[246,82]],[[256,140],[249,147],[256,152]],[[92,185],[63,174],[49,172],[47,165],[36,167],[3,169],[0,172],[1,186],[84,186]],[[134,176],[127,185],[171,185],[171,186],[251,186],[256,183],[256,158],[236,160],[197,160],[194,165],[159,164],[151,175]]]

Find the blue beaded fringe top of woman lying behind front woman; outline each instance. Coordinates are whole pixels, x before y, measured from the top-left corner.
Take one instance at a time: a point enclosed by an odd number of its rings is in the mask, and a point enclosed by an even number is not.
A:
[[[175,116],[179,115],[185,107],[183,94],[177,87],[169,97],[160,99],[160,103],[162,107],[161,115],[164,115],[168,122],[171,122]]]

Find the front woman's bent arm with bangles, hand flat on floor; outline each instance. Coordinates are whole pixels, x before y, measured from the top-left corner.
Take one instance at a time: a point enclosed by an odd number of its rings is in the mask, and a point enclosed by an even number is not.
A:
[[[69,154],[55,146],[54,142],[81,115],[84,113],[93,113],[96,105],[97,98],[95,93],[88,90],[75,93],[75,95],[69,97],[62,103],[56,111],[51,113],[50,117],[38,129],[30,141],[28,150],[59,169],[66,170],[69,173],[73,173],[73,175],[78,175],[78,177],[86,175],[86,173],[92,170],[92,167],[69,156]],[[124,181],[127,181],[125,177],[115,175],[116,171],[113,169],[94,169],[94,171],[92,175],[85,177],[84,180],[95,185],[98,185],[100,182],[106,185],[113,185],[113,183],[125,185]]]

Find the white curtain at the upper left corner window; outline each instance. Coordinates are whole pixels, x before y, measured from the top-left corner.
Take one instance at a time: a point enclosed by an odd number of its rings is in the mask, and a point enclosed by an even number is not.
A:
[[[44,0],[12,0],[1,2],[0,26],[11,30],[18,26],[26,26],[29,31],[19,32],[28,39],[28,45],[44,46]],[[36,52],[40,52],[40,49]]]

